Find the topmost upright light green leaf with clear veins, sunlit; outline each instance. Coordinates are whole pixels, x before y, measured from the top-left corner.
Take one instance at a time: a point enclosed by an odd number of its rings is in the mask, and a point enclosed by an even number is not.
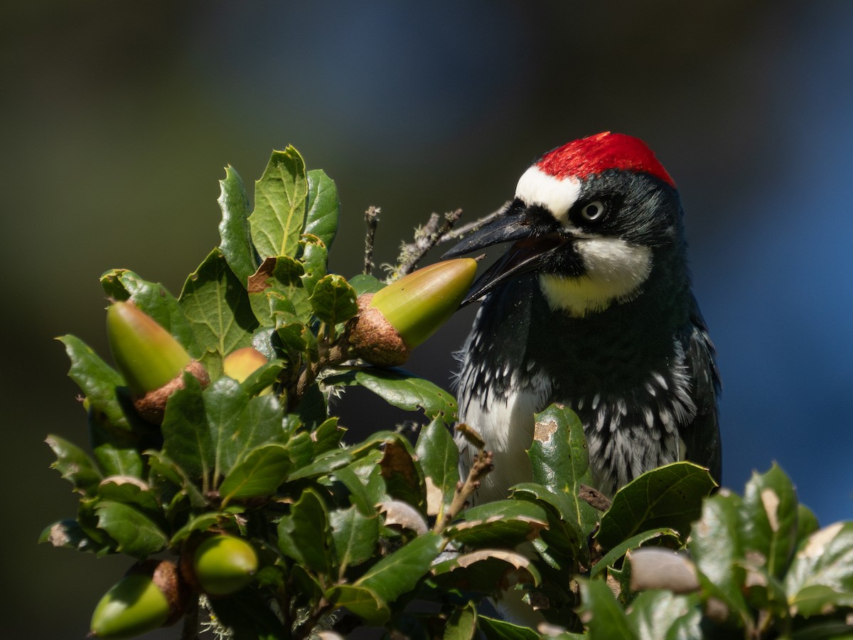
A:
[[[261,259],[296,257],[305,227],[307,197],[302,156],[290,146],[273,151],[264,175],[255,183],[255,210],[249,216],[252,241]]]

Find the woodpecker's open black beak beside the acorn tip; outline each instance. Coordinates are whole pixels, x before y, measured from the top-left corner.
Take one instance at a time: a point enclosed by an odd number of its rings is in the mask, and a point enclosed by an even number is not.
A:
[[[558,224],[550,214],[545,216],[526,207],[509,207],[499,218],[444,253],[442,258],[457,258],[501,242],[514,241],[507,253],[473,283],[460,306],[479,300],[514,276],[536,270],[554,249],[571,241],[560,235]]]

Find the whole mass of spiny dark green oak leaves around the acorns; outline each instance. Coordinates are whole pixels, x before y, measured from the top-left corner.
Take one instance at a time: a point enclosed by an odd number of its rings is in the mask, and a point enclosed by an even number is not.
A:
[[[382,285],[327,272],[339,217],[332,180],[305,172],[287,148],[256,183],[253,212],[234,169],[220,184],[222,241],[177,299],[131,271],[102,276],[108,295],[154,317],[212,382],[202,389],[185,375],[154,428],[127,402],[121,375],[81,340],[61,338],[86,399],[91,453],[49,437],[53,467],[80,505],[42,541],[144,560],[210,532],[246,538],[258,550],[254,582],[202,615],[237,638],[310,637],[317,625],[539,637],[481,613],[508,585],[564,638],[851,634],[853,523],[820,529],[777,467],[743,497],[708,497],[705,469],[671,464],[599,510],[581,497],[583,428],[553,406],[537,416],[532,481],[466,509],[453,396],[401,370],[343,366],[356,295]],[[222,361],[244,346],[270,362],[235,381]],[[392,430],[347,441],[328,398],[348,387],[422,414],[415,443]],[[688,550],[698,589],[676,594],[664,579],[632,591],[631,554],[648,546]]]

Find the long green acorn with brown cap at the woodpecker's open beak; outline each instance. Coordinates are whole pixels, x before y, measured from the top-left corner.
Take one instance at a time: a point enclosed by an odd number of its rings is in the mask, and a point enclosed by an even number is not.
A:
[[[459,308],[476,273],[477,260],[445,260],[359,296],[353,350],[380,367],[403,364]]]

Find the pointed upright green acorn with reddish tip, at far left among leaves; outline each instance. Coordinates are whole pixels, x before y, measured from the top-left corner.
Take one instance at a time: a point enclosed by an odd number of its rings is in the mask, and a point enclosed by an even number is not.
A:
[[[116,367],[125,377],[133,404],[148,422],[163,422],[165,402],[183,387],[189,371],[202,387],[210,377],[201,364],[132,302],[113,302],[107,308],[107,339]]]

